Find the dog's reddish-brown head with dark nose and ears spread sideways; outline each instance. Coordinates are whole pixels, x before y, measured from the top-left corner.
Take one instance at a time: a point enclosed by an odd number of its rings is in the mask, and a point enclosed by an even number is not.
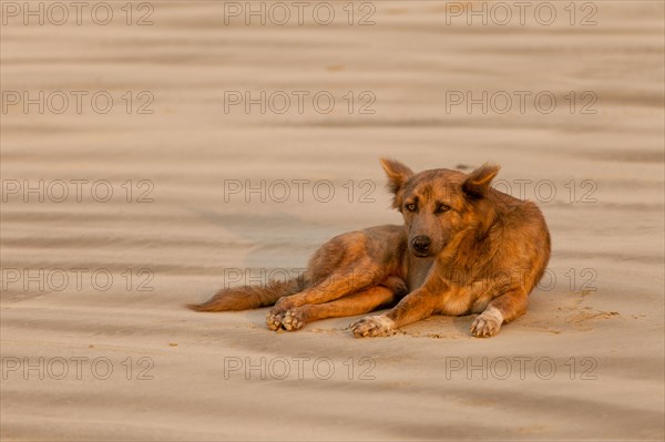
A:
[[[405,217],[411,254],[438,255],[458,235],[485,223],[485,198],[499,166],[485,164],[470,174],[446,168],[415,174],[395,160],[381,160],[381,165],[392,206]]]

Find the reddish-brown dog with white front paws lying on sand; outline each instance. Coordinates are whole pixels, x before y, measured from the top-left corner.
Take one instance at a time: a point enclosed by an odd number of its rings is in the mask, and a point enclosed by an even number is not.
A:
[[[526,311],[529,295],[550,259],[551,239],[535,204],[491,186],[499,166],[469,174],[437,168],[413,173],[381,160],[402,226],[336,236],[307,271],[265,287],[224,289],[196,311],[273,306],[269,329],[390,308],[351,325],[357,338],[392,335],[432,315],[478,313],[470,331],[495,336]]]

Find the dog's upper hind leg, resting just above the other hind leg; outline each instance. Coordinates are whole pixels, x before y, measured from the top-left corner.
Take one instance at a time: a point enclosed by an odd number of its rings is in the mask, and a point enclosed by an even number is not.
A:
[[[381,268],[372,264],[354,266],[346,269],[346,271],[332,273],[314,287],[307,288],[299,294],[280,298],[266,315],[266,323],[269,329],[277,330],[282,326],[285,313],[294,307],[300,307],[306,304],[329,302],[377,285],[386,277],[387,275],[381,271]]]

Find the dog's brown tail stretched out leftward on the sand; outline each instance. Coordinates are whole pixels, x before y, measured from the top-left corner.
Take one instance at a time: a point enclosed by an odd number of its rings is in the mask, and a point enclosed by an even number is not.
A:
[[[307,286],[305,275],[299,275],[286,281],[270,281],[264,286],[245,286],[222,289],[203,304],[190,304],[187,307],[195,311],[229,311],[246,310],[272,306],[284,296],[303,291]]]

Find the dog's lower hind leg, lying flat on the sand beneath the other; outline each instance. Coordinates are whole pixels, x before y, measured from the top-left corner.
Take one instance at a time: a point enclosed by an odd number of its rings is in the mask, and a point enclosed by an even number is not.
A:
[[[368,313],[380,307],[393,305],[406,290],[403,280],[390,277],[380,286],[369,287],[330,302],[306,304],[294,307],[284,315],[282,327],[288,331],[294,331],[319,319]]]

